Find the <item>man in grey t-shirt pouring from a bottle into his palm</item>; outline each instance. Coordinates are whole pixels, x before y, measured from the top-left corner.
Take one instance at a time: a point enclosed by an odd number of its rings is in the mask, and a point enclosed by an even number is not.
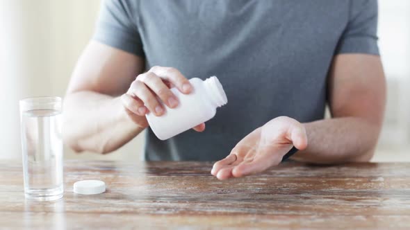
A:
[[[229,103],[145,159],[218,161],[218,179],[292,159],[369,161],[382,126],[385,80],[377,1],[104,1],[65,98],[65,141],[110,152],[178,100],[188,78],[218,76]],[[161,105],[160,101],[164,105]],[[326,103],[331,118],[323,119]]]

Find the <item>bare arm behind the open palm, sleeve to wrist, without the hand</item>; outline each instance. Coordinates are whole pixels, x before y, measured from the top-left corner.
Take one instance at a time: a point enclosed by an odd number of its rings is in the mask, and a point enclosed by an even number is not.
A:
[[[328,82],[330,119],[305,123],[309,145],[292,159],[314,163],[369,161],[384,116],[386,80],[377,55],[334,57]]]

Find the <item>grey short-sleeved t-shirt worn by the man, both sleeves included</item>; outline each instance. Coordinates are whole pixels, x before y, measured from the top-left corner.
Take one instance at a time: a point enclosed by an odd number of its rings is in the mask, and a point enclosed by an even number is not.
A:
[[[218,76],[229,102],[206,130],[167,141],[149,130],[145,150],[147,160],[213,161],[277,116],[322,119],[332,58],[378,55],[376,32],[375,0],[107,0],[94,39],[147,69]]]

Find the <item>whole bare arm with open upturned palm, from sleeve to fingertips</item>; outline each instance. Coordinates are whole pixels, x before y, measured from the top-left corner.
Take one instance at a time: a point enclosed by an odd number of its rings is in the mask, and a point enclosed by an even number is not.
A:
[[[380,57],[334,57],[328,81],[332,118],[300,123],[281,116],[245,136],[213,165],[218,179],[243,177],[277,166],[293,147],[292,159],[312,163],[369,161],[382,127],[386,82]]]

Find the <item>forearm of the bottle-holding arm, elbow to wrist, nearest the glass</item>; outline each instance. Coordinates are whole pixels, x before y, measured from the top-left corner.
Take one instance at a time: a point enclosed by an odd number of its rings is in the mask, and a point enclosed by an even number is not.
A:
[[[111,152],[143,130],[126,115],[120,98],[92,91],[68,94],[64,112],[65,143],[78,152]]]

